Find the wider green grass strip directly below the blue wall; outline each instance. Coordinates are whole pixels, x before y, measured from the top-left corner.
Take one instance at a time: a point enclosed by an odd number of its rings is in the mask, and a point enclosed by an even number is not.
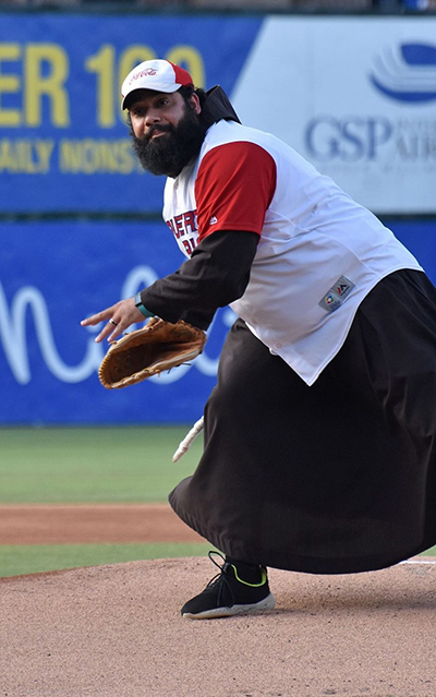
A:
[[[172,462],[190,428],[1,429],[0,504],[165,502],[201,458],[198,436]]]

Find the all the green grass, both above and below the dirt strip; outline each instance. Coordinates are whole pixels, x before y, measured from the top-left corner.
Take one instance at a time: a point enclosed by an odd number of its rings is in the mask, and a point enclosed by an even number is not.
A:
[[[0,505],[157,503],[191,474],[202,437],[172,462],[186,426],[1,429]],[[203,555],[208,543],[2,545],[0,577]],[[436,555],[436,548],[427,554]]]

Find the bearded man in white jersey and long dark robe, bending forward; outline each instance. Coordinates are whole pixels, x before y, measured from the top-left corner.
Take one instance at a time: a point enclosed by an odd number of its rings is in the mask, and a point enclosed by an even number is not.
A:
[[[187,261],[83,324],[106,321],[96,340],[113,341],[144,317],[207,329],[219,307],[238,315],[204,454],[169,497],[225,555],[182,615],[274,608],[268,566],[368,572],[435,544],[436,290],[417,261],[295,151],[242,125],[220,87],[150,60],[122,95]]]

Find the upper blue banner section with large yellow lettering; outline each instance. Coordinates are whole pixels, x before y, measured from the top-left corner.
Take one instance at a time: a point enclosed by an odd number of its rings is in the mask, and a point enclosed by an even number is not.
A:
[[[143,60],[230,92],[262,19],[0,15],[0,212],[150,212],[164,179],[130,146],[120,86]]]

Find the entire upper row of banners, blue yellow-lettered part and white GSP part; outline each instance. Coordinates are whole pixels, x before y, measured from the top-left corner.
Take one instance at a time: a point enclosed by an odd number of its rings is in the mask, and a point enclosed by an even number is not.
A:
[[[436,17],[1,14],[0,213],[155,212],[120,110],[160,57],[378,214],[436,213]]]

